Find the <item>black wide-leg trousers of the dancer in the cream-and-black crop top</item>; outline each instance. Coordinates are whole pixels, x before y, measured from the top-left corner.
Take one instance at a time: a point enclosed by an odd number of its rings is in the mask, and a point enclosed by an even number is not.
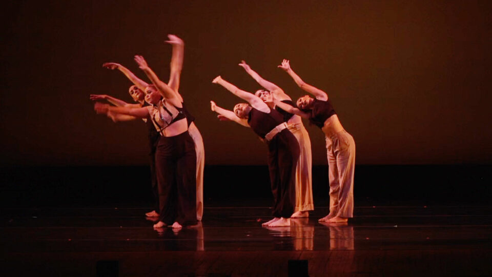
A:
[[[161,136],[155,154],[159,186],[159,220],[171,225],[196,224],[196,153],[188,132]]]

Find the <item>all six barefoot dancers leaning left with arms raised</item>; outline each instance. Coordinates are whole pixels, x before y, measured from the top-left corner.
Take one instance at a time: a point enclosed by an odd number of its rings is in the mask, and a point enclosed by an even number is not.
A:
[[[109,95],[91,94],[97,113],[106,114],[114,122],[142,118],[148,126],[152,191],[156,204],[147,216],[158,220],[154,228],[175,229],[195,225],[203,215],[203,139],[178,92],[183,64],[184,43],[168,35],[173,46],[169,82],[159,80],[144,57],[135,62],[152,84],[140,80],[130,70],[116,63],[105,63],[109,69],[124,73],[133,85],[129,93],[137,104],[128,104]],[[347,222],[353,217],[355,142],[342,127],[327,94],[306,84],[292,70],[288,60],[278,67],[310,95],[296,104],[277,85],[264,80],[242,61],[239,64],[264,89],[254,94],[238,89],[221,76],[212,83],[221,85],[248,103],[239,103],[233,111],[211,101],[212,111],[221,121],[234,121],[250,127],[267,144],[270,184],[274,198],[274,218],[262,224],[267,227],[290,226],[290,218],[309,217],[314,210],[312,191],[312,154],[309,134],[301,117],[320,127],[325,134],[329,162],[330,213],[321,222]]]

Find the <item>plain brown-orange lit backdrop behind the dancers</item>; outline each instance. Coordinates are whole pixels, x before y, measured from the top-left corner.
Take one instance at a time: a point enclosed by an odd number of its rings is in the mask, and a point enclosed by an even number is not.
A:
[[[89,94],[127,101],[144,55],[167,81],[168,33],[186,43],[180,92],[197,117],[209,165],[262,165],[248,129],[219,122],[210,100],[238,98],[211,81],[258,85],[242,59],[293,98],[277,69],[293,69],[331,97],[357,144],[358,164],[490,164],[490,1],[12,1],[3,4],[0,138],[3,165],[145,165],[141,122],[114,124]],[[307,124],[306,124],[307,126]],[[307,126],[314,164],[322,133]]]

